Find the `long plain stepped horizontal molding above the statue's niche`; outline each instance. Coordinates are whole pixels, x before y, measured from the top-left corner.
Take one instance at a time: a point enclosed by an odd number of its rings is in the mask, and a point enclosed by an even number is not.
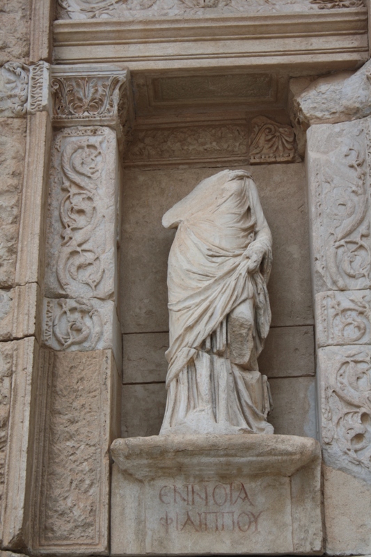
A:
[[[171,46],[171,55],[169,47]],[[221,47],[222,46],[222,47]],[[246,65],[299,66],[313,73],[353,69],[368,59],[365,9],[249,17],[54,22],[57,63],[124,63],[131,70]]]

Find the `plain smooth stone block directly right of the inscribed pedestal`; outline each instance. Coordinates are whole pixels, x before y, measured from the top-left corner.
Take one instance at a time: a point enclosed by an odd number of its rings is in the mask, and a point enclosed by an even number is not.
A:
[[[326,553],[370,554],[370,485],[330,466],[323,474]]]

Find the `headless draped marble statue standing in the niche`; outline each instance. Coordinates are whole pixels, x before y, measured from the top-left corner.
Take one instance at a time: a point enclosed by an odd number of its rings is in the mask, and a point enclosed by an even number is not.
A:
[[[271,231],[251,175],[203,180],[162,220],[168,258],[168,398],[160,434],[273,433],[258,370],[271,322]]]

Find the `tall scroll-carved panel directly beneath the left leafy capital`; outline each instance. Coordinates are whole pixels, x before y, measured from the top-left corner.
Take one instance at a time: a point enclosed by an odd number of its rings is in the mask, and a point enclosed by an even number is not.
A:
[[[116,134],[71,127],[54,137],[47,217],[48,297],[113,299]]]

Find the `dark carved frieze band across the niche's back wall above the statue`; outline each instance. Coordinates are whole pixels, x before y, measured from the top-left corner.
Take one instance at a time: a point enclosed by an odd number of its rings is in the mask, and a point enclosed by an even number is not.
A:
[[[251,122],[168,125],[134,130],[125,165],[184,164],[239,161],[244,164],[297,162],[297,145],[290,125],[260,116]]]

